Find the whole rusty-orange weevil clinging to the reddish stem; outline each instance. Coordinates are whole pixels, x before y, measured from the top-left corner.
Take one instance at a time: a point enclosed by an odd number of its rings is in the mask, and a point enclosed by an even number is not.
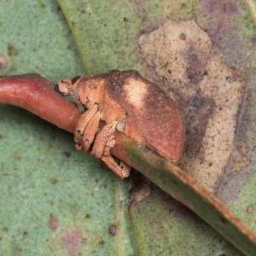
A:
[[[63,96],[71,95],[83,112],[75,131],[76,148],[91,152],[120,177],[129,176],[130,166],[118,164],[110,154],[116,130],[170,161],[179,160],[185,141],[182,115],[159,86],[137,71],[68,77],[55,88]],[[106,125],[99,131],[100,120]]]

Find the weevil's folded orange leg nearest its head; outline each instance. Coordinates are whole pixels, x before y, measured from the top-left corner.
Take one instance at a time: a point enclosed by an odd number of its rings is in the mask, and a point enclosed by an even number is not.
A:
[[[90,109],[81,115],[76,125],[74,140],[76,141],[76,148],[78,150],[88,152],[98,131],[99,122],[99,106],[93,104]]]

